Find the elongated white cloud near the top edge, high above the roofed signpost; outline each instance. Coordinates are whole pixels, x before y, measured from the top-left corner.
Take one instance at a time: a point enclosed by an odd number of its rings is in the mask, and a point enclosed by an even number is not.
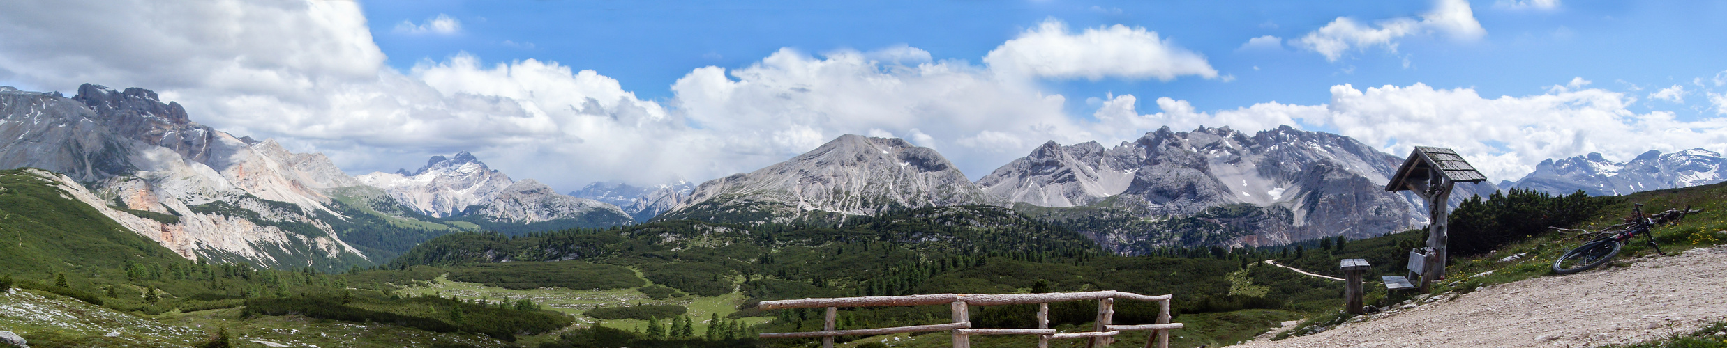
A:
[[[1290,45],[1319,52],[1326,60],[1337,62],[1349,48],[1383,47],[1389,52],[1397,52],[1399,38],[1432,31],[1445,33],[1454,40],[1477,40],[1487,34],[1487,29],[1475,21],[1468,2],[1439,0],[1432,12],[1421,16],[1421,21],[1387,19],[1368,26],[1356,19],[1337,17],[1316,31],[1292,40]]]

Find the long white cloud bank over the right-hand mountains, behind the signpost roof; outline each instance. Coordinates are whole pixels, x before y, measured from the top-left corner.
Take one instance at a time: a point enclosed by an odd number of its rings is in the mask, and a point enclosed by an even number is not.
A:
[[[1204,124],[1240,131],[1276,124],[1323,127],[1389,153],[1408,153],[1418,145],[1447,146],[1494,181],[1520,179],[1546,158],[1591,152],[1630,158],[1651,148],[1727,150],[1727,119],[1677,121],[1672,112],[1635,114],[1627,110],[1632,102],[1632,96],[1606,90],[1485,98],[1471,88],[1439,90],[1421,83],[1366,90],[1338,84],[1332,86],[1330,103],[1325,105],[1257,103],[1195,112],[1186,102],[1159,98],[1159,114],[1135,115],[1112,109],[1109,119],[1140,117],[1143,121],[1135,126]],[[1105,119],[1104,114],[1100,109],[1098,119]]]

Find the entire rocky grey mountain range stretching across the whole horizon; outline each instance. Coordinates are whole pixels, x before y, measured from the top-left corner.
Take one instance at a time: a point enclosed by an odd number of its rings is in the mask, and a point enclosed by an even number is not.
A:
[[[1116,146],[1045,143],[969,181],[933,148],[839,136],[753,172],[701,184],[594,183],[568,195],[515,181],[466,152],[423,167],[349,176],[321,153],[192,122],[149,90],[78,95],[0,88],[0,169],[36,167],[69,193],[187,258],[340,269],[394,258],[451,231],[528,233],[646,221],[838,222],[907,208],[993,205],[1066,224],[1117,253],[1366,238],[1427,224],[1423,203],[1383,184],[1402,157],[1288,126],[1162,127]],[[1708,150],[1542,162],[1502,186],[1616,195],[1727,179]],[[1496,191],[1459,184],[1452,203]]]

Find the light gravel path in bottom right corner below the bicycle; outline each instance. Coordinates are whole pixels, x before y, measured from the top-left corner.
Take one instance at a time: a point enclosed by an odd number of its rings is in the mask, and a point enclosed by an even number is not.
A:
[[[1727,246],[1489,286],[1262,346],[1597,346],[1727,319]]]

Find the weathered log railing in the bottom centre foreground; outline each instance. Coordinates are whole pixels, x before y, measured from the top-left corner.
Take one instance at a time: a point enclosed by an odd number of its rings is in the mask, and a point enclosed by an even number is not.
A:
[[[1140,300],[1140,301],[1157,301],[1161,305],[1157,312],[1157,324],[1145,326],[1112,326],[1110,319],[1116,317],[1116,298]],[[971,348],[971,336],[983,334],[1036,334],[1038,348],[1048,348],[1050,339],[1071,339],[1086,338],[1091,339],[1091,346],[1109,346],[1116,334],[1123,331],[1152,331],[1152,336],[1145,339],[1145,346],[1150,348],[1154,343],[1157,348],[1169,346],[1169,331],[1181,329],[1181,322],[1169,322],[1169,295],[1145,296],[1136,293],[1123,291],[1086,291],[1086,293],[1010,293],[1010,295],[960,295],[960,293],[941,293],[941,295],[907,295],[907,296],[862,296],[862,298],[803,298],[803,300],[777,300],[762,301],[763,310],[779,308],[820,308],[827,307],[827,320],[822,324],[822,331],[807,332],[765,332],[762,338],[822,338],[822,348],[832,348],[836,336],[876,336],[876,334],[898,334],[898,332],[927,332],[927,331],[952,331],[953,348]],[[1093,331],[1088,332],[1057,332],[1050,329],[1050,301],[1081,301],[1097,300],[1097,322]],[[1038,329],[977,329],[971,326],[969,305],[1029,305],[1038,303]],[[879,327],[879,329],[834,329],[834,322],[839,317],[839,307],[914,307],[914,305],[948,305],[953,314],[953,322],[950,324],[933,324],[933,326],[900,326],[900,327]]]

